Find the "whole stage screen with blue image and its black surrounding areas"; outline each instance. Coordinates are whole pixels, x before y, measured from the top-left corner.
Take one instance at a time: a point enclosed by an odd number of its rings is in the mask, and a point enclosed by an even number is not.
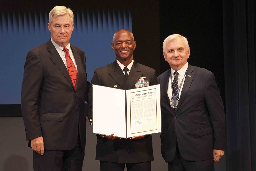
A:
[[[49,12],[56,5],[64,5],[74,12],[70,43],[85,51],[89,81],[94,69],[116,59],[110,43],[115,31],[120,28],[133,32],[137,42],[134,59],[156,69],[159,75],[159,2],[146,2],[1,1],[0,117],[22,116],[20,96],[26,54],[51,38],[47,23]],[[149,13],[153,7],[154,10]]]

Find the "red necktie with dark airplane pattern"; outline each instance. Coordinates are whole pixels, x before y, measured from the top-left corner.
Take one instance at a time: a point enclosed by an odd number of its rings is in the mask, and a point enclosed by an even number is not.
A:
[[[75,64],[72,61],[69,53],[68,53],[68,49],[67,48],[63,48],[63,51],[66,53],[65,57],[66,57],[66,62],[67,62],[67,66],[68,66],[68,73],[70,75],[70,78],[73,82],[73,86],[75,88],[75,83],[76,83],[76,78],[77,78],[77,71],[75,68]]]

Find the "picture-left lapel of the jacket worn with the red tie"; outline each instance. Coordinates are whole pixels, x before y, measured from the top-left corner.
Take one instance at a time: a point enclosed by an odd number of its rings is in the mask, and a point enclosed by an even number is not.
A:
[[[64,65],[60,55],[58,54],[56,48],[54,47],[51,39],[46,44],[47,44],[48,51],[51,53],[51,55],[50,55],[51,60],[55,63],[55,65],[59,68],[59,70],[62,72],[62,74],[68,80],[68,82],[74,88],[72,80],[68,73],[68,70],[67,70],[66,66]]]

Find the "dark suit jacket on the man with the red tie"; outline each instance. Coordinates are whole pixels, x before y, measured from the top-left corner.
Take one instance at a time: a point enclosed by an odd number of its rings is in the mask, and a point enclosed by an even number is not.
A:
[[[21,107],[27,140],[43,136],[46,150],[73,149],[78,133],[85,149],[84,102],[90,83],[85,53],[70,47],[78,71],[75,89],[51,40],[29,51],[24,66]]]

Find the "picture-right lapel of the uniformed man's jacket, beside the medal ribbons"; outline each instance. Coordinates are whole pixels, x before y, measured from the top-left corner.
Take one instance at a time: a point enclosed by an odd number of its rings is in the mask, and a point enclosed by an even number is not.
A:
[[[133,61],[131,70],[124,84],[124,90],[132,89],[135,86],[135,83],[142,76],[143,72],[140,71],[139,65],[136,61]]]

